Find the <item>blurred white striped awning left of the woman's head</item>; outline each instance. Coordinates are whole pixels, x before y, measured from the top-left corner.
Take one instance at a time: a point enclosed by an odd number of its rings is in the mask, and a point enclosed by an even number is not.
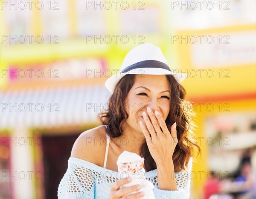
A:
[[[97,123],[110,96],[104,85],[0,92],[0,128]]]

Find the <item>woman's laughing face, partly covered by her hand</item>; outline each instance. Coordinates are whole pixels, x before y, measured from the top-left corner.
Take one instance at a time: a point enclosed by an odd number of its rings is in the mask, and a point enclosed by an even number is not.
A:
[[[135,83],[125,98],[128,118],[126,123],[135,130],[140,129],[139,121],[143,121],[142,113],[157,110],[166,120],[170,111],[170,86],[166,75],[136,75]]]

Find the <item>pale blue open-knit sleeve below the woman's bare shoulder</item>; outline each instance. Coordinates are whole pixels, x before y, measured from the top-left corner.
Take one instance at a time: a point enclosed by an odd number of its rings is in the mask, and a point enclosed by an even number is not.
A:
[[[67,171],[58,185],[58,199],[93,199],[94,179],[93,170],[69,161]]]

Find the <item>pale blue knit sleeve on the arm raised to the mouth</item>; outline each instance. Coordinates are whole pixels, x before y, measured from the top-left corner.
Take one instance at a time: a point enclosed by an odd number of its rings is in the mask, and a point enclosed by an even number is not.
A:
[[[192,158],[189,159],[187,170],[181,170],[175,174],[177,191],[161,190],[158,185],[154,187],[154,196],[156,199],[186,199],[189,198],[190,192],[190,173],[192,170]]]

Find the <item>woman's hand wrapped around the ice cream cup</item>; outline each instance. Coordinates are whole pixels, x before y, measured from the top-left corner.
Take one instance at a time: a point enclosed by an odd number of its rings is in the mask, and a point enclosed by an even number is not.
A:
[[[122,185],[127,184],[128,182],[131,182],[132,178],[128,178],[127,180],[119,179],[116,181],[115,184],[113,184],[110,188],[110,194],[109,198],[141,198],[145,195],[144,192],[134,193],[132,195],[129,195],[129,193],[138,191],[141,188],[141,185],[133,185],[131,187],[122,187]],[[138,186],[138,187],[137,187]]]

